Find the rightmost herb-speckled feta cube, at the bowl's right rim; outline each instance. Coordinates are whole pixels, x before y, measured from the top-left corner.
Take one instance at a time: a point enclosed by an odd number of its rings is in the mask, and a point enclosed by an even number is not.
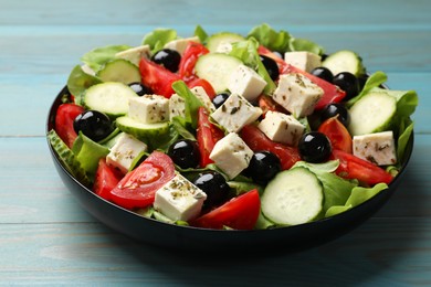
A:
[[[392,131],[381,131],[355,136],[354,155],[376,166],[397,163],[396,145]]]

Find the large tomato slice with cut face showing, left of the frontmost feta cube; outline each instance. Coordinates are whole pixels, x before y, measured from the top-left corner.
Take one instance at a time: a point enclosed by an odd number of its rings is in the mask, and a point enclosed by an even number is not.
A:
[[[175,176],[169,156],[154,151],[111,191],[109,199],[125,209],[146,208],[154,203],[156,191]]]

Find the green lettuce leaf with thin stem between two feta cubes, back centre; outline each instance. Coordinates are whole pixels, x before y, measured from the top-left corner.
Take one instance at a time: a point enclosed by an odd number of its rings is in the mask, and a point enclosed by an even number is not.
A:
[[[249,38],[245,41],[235,42],[232,44],[231,56],[240,59],[245,65],[257,71],[257,74],[266,82],[264,88],[265,94],[271,95],[276,88],[274,81],[270,77],[261,57],[257,53],[259,43],[254,38]]]

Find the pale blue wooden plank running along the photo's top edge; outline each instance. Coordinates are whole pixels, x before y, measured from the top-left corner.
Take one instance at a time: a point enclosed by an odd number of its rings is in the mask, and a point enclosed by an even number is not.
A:
[[[45,4],[45,6],[44,6]],[[250,25],[260,22],[286,23],[297,26],[320,26],[325,24],[339,29],[356,26],[417,26],[428,23],[429,2],[414,0],[408,3],[383,0],[366,4],[361,1],[346,4],[343,0],[326,1],[325,8],[318,0],[283,1],[272,0],[263,4],[249,1],[246,7],[241,1],[139,1],[106,3],[103,0],[92,1],[94,9],[85,0],[73,2],[59,0],[41,4],[32,0],[2,1],[0,24],[112,24],[118,25],[169,25],[216,23],[224,26]],[[323,13],[322,11],[325,11]],[[393,11],[402,11],[393,12]],[[348,21],[346,21],[348,19]]]

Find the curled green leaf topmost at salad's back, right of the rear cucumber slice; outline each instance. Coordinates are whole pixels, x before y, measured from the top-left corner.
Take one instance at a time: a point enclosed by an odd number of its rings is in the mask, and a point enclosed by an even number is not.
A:
[[[286,31],[281,30],[276,32],[267,23],[263,23],[253,28],[248,38],[254,38],[261,45],[270,49],[271,51],[277,51],[284,53],[290,51],[291,34]]]

